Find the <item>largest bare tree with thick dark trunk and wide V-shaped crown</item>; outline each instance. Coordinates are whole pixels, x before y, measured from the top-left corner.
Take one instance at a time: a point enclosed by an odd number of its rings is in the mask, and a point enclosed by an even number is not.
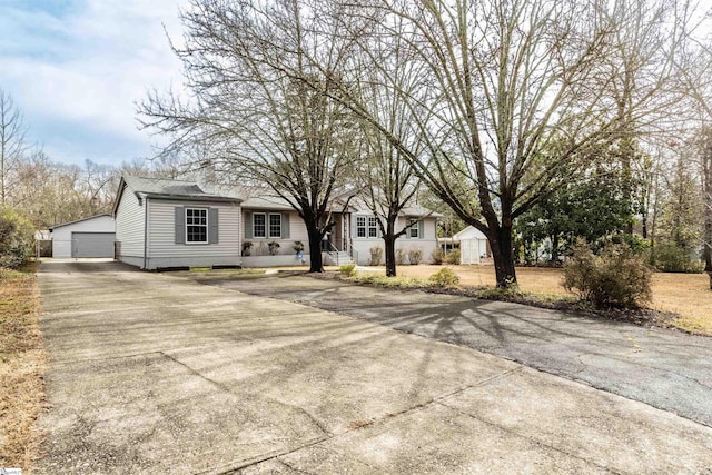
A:
[[[621,31],[634,27],[617,18],[649,8],[660,14],[641,16],[637,27],[668,42],[642,58],[644,73],[637,75],[641,65],[615,60],[627,58],[620,42],[629,37]],[[487,236],[497,285],[506,287],[516,281],[514,219],[576,177],[582,150],[613,142],[632,123],[674,102],[663,95],[672,89],[673,44],[683,37],[674,21],[665,27],[673,8],[642,0],[376,2],[368,14],[377,24],[362,40],[362,58],[370,57],[379,69],[380,87],[409,105],[427,154],[390,133],[370,105],[349,91],[348,80],[333,98],[369,120],[443,201]],[[345,29],[350,20],[344,19]],[[426,72],[421,88],[398,89],[370,53],[374,41],[392,38],[407,49],[407,61]],[[629,80],[621,79],[625,75]],[[627,88],[620,97],[611,92],[616,81]]]

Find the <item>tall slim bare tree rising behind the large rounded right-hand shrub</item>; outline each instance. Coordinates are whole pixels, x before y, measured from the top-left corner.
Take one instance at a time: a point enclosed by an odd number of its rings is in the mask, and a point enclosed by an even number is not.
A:
[[[646,156],[639,138],[652,129],[682,126],[682,116],[670,115],[666,105],[680,100],[683,89],[671,95],[675,81],[674,48],[686,31],[685,4],[680,2],[675,13],[664,0],[617,0],[604,11],[615,24],[612,30],[613,48],[602,58],[601,67],[607,69],[607,91],[615,103],[615,118],[620,122],[615,139],[615,158],[623,178],[623,202],[633,214],[641,208],[636,201],[635,168],[645,168]],[[668,23],[664,26],[663,23]],[[643,112],[643,113],[641,113]],[[676,122],[676,123],[675,123]],[[664,123],[664,126],[662,126]],[[641,170],[639,170],[641,171]],[[632,234],[633,221],[626,232]]]

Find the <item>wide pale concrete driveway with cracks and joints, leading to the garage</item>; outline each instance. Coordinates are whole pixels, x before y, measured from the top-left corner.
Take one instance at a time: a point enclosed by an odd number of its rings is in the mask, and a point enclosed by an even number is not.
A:
[[[40,290],[38,473],[712,473],[710,427],[471,348],[118,264]]]

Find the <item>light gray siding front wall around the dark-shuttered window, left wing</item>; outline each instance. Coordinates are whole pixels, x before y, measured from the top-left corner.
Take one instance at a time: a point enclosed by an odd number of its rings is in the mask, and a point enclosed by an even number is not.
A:
[[[176,244],[176,208],[217,210],[217,244]],[[209,232],[215,232],[215,227],[210,226],[210,222],[208,226]],[[149,263],[147,267],[152,269],[177,266],[239,265],[239,232],[240,208],[237,205],[151,199],[149,204]],[[210,237],[209,240],[214,241]]]

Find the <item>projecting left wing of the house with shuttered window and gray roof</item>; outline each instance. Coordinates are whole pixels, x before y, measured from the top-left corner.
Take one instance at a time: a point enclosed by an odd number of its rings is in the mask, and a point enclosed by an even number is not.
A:
[[[239,266],[240,202],[194,181],[122,177],[113,205],[116,257],[148,270]]]

